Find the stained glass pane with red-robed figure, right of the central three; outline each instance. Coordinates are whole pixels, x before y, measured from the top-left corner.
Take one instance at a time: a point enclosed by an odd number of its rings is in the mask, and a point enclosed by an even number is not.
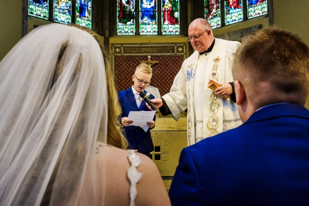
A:
[[[162,1],[162,34],[180,34],[179,0]]]

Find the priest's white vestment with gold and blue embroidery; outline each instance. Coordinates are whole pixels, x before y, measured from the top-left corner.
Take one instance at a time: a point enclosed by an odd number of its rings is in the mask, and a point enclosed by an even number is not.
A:
[[[207,55],[195,51],[184,60],[170,92],[162,97],[175,120],[188,108],[188,146],[242,124],[231,98],[218,97],[207,87],[210,79],[233,82],[231,66],[238,45],[236,41],[215,39]],[[218,68],[213,69],[214,64]]]

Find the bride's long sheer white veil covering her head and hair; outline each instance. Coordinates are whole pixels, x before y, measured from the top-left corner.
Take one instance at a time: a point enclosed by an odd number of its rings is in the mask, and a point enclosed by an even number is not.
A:
[[[88,32],[49,24],[20,40],[0,63],[0,205],[80,204],[86,169],[95,201],[107,118],[104,59]]]

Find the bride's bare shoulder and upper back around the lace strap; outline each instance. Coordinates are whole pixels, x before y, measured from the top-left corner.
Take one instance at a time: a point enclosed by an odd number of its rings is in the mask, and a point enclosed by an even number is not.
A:
[[[127,170],[131,166],[128,159],[129,151],[103,145],[103,143],[97,149],[99,154],[105,152],[106,157],[106,194],[108,194],[105,196],[106,205],[129,205],[130,182],[127,177]],[[136,185],[135,205],[170,205],[167,191],[155,163],[144,154],[138,152],[136,154],[141,159],[137,170],[143,175]],[[160,198],[157,198],[158,196]]]

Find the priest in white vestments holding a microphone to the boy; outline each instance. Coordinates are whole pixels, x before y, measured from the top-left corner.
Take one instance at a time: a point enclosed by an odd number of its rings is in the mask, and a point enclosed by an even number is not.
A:
[[[214,38],[205,19],[193,20],[188,35],[187,39],[196,51],[184,60],[170,92],[151,102],[160,108],[163,116],[171,114],[176,121],[188,109],[189,146],[235,128],[242,122],[234,104],[231,73],[233,54],[240,43]],[[213,91],[208,88],[210,80],[222,86]]]

